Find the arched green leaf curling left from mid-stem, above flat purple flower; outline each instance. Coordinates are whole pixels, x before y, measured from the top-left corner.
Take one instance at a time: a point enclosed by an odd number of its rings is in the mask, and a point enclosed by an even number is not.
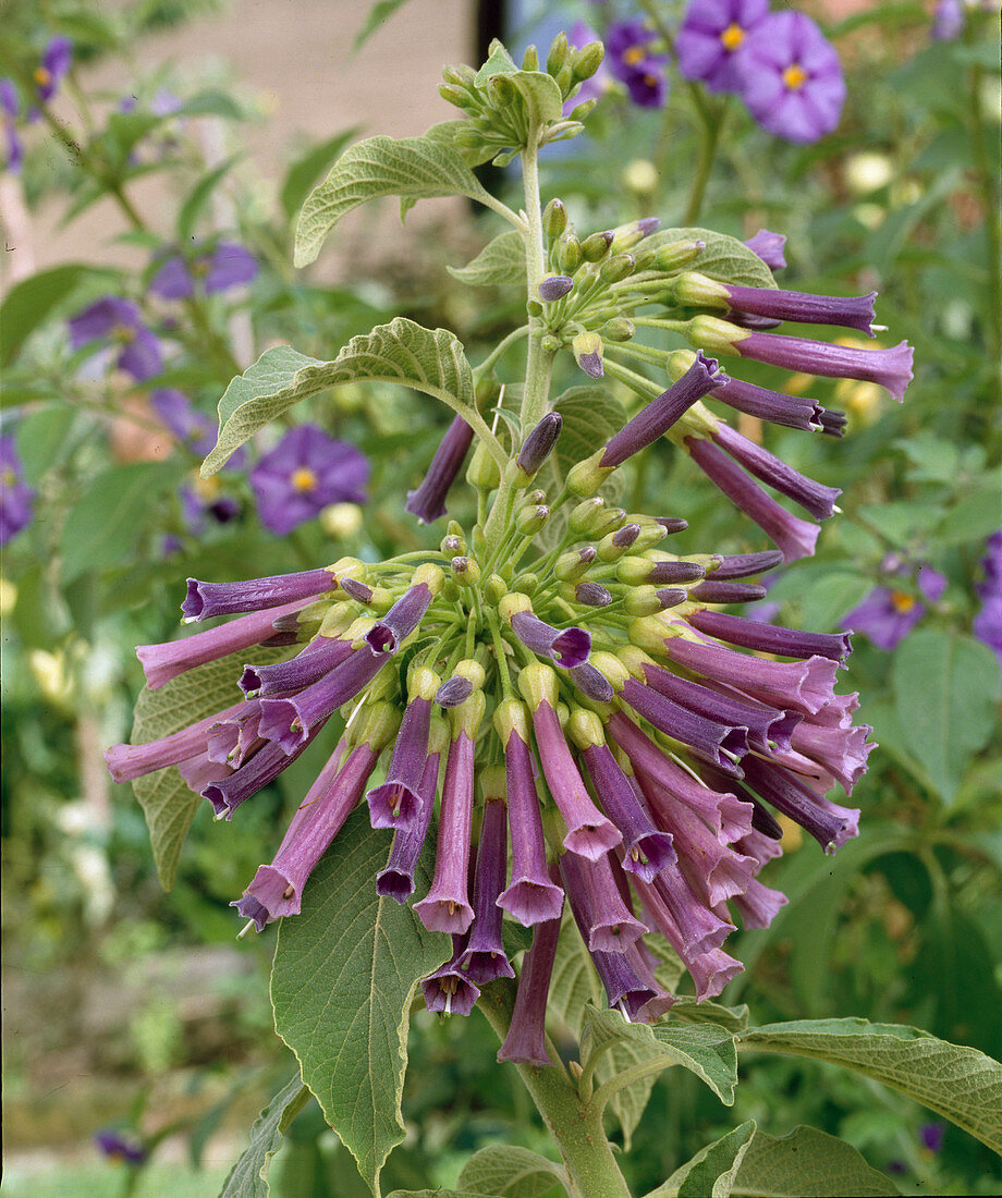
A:
[[[201,467],[215,474],[258,429],[300,400],[343,382],[396,382],[441,399],[494,441],[476,409],[473,374],[463,345],[443,328],[434,332],[397,316],[352,337],[333,362],[278,345],[234,379],[219,400],[219,440]]]

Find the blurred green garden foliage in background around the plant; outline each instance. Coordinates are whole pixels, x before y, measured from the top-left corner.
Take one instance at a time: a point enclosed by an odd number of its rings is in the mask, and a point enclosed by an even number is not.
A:
[[[364,504],[325,502],[288,537],[262,524],[253,486],[255,462],[284,430],[262,434],[243,468],[221,476],[221,490],[206,488],[194,477],[200,454],[158,413],[155,393],[179,391],[191,412],[211,417],[231,375],[276,343],[333,357],[351,335],[404,314],[454,329],[476,362],[518,319],[517,298],[472,294],[446,273],[497,231],[489,217],[454,219],[455,210],[412,240],[405,258],[380,262],[378,243],[358,250],[375,271],[352,268],[351,247],[342,247],[333,285],[292,271],[297,207],[356,131],[333,127],[330,140],[297,144],[284,176],[262,180],[241,159],[241,131],[262,110],[225,79],[201,86],[161,67],[137,73],[128,95],[89,93],[90,63],[131,59],[147,31],[224,7],[50,0],[5,11],[0,73],[19,99],[5,116],[5,225],[59,202],[72,229],[110,196],[128,224],[122,241],[145,262],[113,265],[104,247],[82,244],[72,262],[25,277],[8,268],[5,285],[0,431],[20,464],[5,480],[20,489],[29,515],[5,545],[0,591],[12,1196],[121,1192],[122,1178],[90,1143],[101,1129],[149,1151],[125,1179],[135,1193],[163,1192],[168,1176],[177,1194],[215,1193],[249,1121],[289,1071],[276,1060],[271,1030],[272,937],[236,945],[227,904],[298,801],[310,755],[231,824],[201,811],[177,883],[163,894],[141,812],[131,792],[111,792],[101,761],[103,745],[128,737],[143,683],[132,647],[173,635],[187,575],[274,574],[344,553],[376,558],[441,536],[403,513],[449,416],[416,393],[345,387],[288,416],[286,428],[309,420],[372,465]],[[545,16],[543,7],[523,5],[506,30],[490,31],[517,50],[531,40],[548,44],[557,20],[593,22],[600,34],[615,16],[644,16],[627,5],[547,5]],[[668,29],[682,7],[644,6]],[[881,745],[857,791],[859,839],[828,859],[787,835],[786,855],[766,881],[790,904],[769,930],[738,938],[734,951],[747,972],[723,1000],[749,1003],[760,1023],[861,1015],[991,1052],[1002,1040],[1002,746],[997,653],[974,622],[991,582],[986,541],[1002,525],[998,17],[968,6],[962,31],[934,40],[931,10],[909,0],[850,12],[835,2],[799,7],[823,23],[846,71],[834,134],[791,145],[714,98],[719,137],[700,195],[692,164],[706,126],[694,89],[675,75],[663,108],[606,96],[588,134],[544,158],[543,192],[559,194],[585,231],[651,214],[743,237],[780,230],[789,238],[780,285],[877,289],[879,319],[893,339],[886,344],[915,345],[916,377],[900,406],[868,383],[802,380],[826,406],[847,412],[845,440],[762,434],[791,465],[844,491],[843,514],[823,528],[816,556],[773,585],[769,611],[829,631],[876,587],[899,597],[898,611],[915,616],[922,606],[893,651],[858,635],[849,662],[846,689],[861,691],[862,719]],[[399,4],[384,16],[412,19]],[[482,31],[489,19],[481,12]],[[53,38],[72,43],[72,65],[60,96],[29,120],[35,72]],[[151,174],[173,196],[169,228],[152,228],[133,206],[135,181]],[[493,186],[503,190],[506,176],[499,182],[495,173]],[[195,272],[188,298],[158,294],[165,255],[189,246],[207,254],[217,243],[252,255],[249,282],[212,291]],[[104,296],[135,304],[132,339],[149,331],[162,369],[145,377],[115,369],[98,352],[107,338],[74,346],[67,321]],[[111,333],[119,349],[129,344],[121,326]],[[781,376],[762,367],[748,377],[779,386]],[[754,526],[677,459],[664,443],[633,479],[628,507],[684,515],[690,528],[677,538],[680,552],[763,547]],[[472,516],[463,503],[452,513],[460,521]],[[923,565],[947,580],[935,603],[917,589]],[[320,755],[324,745],[314,749]],[[386,1169],[387,1191],[429,1179],[448,1185],[473,1149],[496,1140],[550,1150],[514,1073],[494,1063],[495,1048],[478,1016],[415,1017],[410,1133]],[[803,1061],[749,1060],[725,1120],[711,1095],[677,1072],[656,1083],[633,1137],[627,1168],[636,1192],[746,1118],[777,1135],[807,1123],[843,1136],[905,1193],[996,1192],[986,1149],[864,1079]],[[163,1163],[185,1158],[191,1173]],[[60,1160],[76,1163],[59,1172]],[[307,1108],[276,1162],[273,1190],[283,1198],[352,1194],[346,1161],[319,1111]]]

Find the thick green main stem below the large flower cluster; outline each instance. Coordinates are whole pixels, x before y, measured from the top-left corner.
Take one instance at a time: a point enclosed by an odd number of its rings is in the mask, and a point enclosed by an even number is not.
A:
[[[514,1009],[514,984],[495,982],[478,1002],[479,1009],[503,1041]],[[515,1065],[536,1109],[554,1138],[571,1181],[580,1198],[629,1198],[629,1187],[602,1127],[602,1113],[585,1105],[560,1066]]]

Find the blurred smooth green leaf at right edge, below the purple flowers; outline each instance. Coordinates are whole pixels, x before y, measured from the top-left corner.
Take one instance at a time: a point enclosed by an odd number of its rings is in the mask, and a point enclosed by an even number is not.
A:
[[[997,726],[998,661],[980,641],[922,628],[898,648],[894,706],[911,751],[944,803]]]

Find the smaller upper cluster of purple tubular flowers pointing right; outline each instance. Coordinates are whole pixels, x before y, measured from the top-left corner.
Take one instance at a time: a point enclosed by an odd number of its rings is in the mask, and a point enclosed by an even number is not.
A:
[[[875,382],[901,400],[912,377],[907,343],[867,350],[773,332],[791,321],[841,326],[873,337],[876,292],[839,298],[720,282],[698,270],[706,249],[699,230],[659,232],[654,218],[579,238],[563,205],[553,200],[544,229],[550,273],[532,302],[548,327],[544,346],[571,351],[586,375],[623,383],[645,405],[614,442],[572,473],[574,494],[594,494],[628,456],[668,436],[759,525],[786,562],[813,553],[816,521],[834,513],[839,490],[793,470],[717,416],[706,401],[835,437],[843,435],[845,415],[814,399],[724,374],[716,363],[710,374],[694,368],[711,361],[706,355],[748,358],[808,375]],[[747,246],[775,271],[785,266],[784,241],[762,230]],[[681,337],[693,349],[641,344],[635,339],[639,329]],[[680,381],[686,385],[675,386]],[[804,516],[789,512],[762,483]]]

